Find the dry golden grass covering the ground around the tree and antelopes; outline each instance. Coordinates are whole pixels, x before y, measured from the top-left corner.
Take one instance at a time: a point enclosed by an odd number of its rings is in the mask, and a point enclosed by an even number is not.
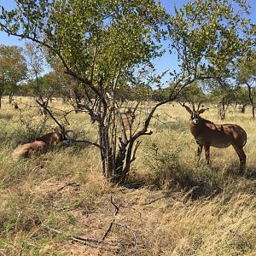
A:
[[[68,108],[59,101],[53,106]],[[0,255],[256,255],[256,135],[249,113],[235,110],[225,120],[247,131],[243,177],[233,148],[211,148],[212,166],[204,160],[195,166],[189,115],[167,104],[132,166],[130,182],[144,186],[125,189],[102,178],[96,148],[61,147],[13,161],[10,154],[18,143],[54,126],[47,120],[40,130],[38,110],[20,108],[21,124],[20,112],[6,100],[0,111]],[[214,108],[204,117],[219,122]],[[96,126],[84,114],[72,113],[70,119],[74,136],[84,131],[96,139]],[[119,207],[115,218],[110,195]],[[72,236],[101,240],[112,222],[100,247],[71,241]]]

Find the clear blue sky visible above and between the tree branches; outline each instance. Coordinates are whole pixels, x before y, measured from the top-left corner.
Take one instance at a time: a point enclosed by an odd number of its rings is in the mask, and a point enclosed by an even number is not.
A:
[[[188,0],[162,0],[163,5],[165,6],[166,10],[173,14],[174,6],[177,7],[182,6],[184,3],[188,3]],[[251,18],[253,23],[256,23],[256,1],[255,0],[247,0],[247,3],[251,6]],[[0,5],[3,5],[6,9],[13,9],[15,8],[15,1],[14,0],[0,0]],[[18,38],[8,36],[4,32],[0,32],[0,44],[8,44],[8,45],[24,45],[24,40],[20,41]],[[177,57],[176,55],[164,55],[160,60],[155,61],[155,67],[159,72],[163,72],[166,69],[177,69]]]

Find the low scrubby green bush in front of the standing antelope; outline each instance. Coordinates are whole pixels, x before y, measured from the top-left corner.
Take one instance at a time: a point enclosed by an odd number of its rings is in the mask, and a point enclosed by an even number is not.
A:
[[[183,160],[183,148],[173,148],[171,151],[156,152],[155,145],[151,148],[149,184],[159,189],[182,190],[192,189],[192,198],[215,195],[222,191],[224,178],[220,173],[213,172],[208,166],[196,166],[196,160]],[[152,150],[151,150],[152,151]],[[149,164],[150,162],[150,164]]]

